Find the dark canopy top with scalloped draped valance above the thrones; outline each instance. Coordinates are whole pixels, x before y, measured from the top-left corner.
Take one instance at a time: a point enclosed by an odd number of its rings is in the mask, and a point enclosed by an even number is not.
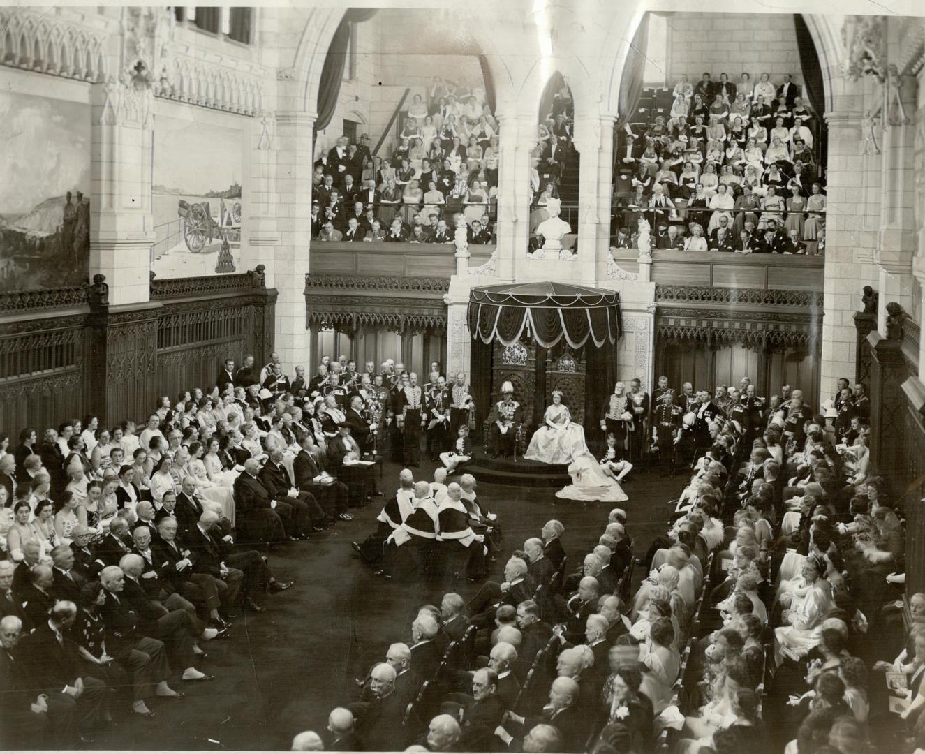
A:
[[[468,322],[472,337],[485,343],[510,346],[526,335],[546,349],[562,338],[572,348],[589,338],[600,348],[620,337],[620,294],[551,282],[474,288]]]

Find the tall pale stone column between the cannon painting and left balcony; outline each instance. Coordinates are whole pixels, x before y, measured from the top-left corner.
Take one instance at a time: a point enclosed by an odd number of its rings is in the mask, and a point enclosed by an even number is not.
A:
[[[304,290],[312,236],[314,120],[314,113],[277,113],[275,247],[272,232],[263,237],[267,251],[274,250],[262,261],[267,286],[279,292],[276,351],[288,373],[309,358]]]

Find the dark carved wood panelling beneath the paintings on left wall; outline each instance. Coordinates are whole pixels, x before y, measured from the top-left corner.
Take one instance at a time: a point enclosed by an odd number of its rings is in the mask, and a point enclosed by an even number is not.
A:
[[[226,356],[263,363],[276,297],[262,266],[152,280],[149,302],[119,306],[105,284],[0,294],[0,431],[143,419],[158,395],[214,383]]]

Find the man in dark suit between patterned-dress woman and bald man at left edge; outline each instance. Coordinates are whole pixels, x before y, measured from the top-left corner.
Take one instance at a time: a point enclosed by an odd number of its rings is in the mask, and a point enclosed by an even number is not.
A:
[[[64,694],[76,701],[74,708],[80,742],[93,743],[93,729],[105,701],[106,686],[99,678],[80,673],[78,649],[64,635],[77,616],[70,600],[59,602],[35,631],[19,642],[19,658],[25,663],[32,690],[48,697]]]

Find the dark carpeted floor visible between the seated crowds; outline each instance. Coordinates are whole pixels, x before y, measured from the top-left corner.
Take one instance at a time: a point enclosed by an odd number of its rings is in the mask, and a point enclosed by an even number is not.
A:
[[[380,488],[398,487],[399,467],[386,464]],[[415,469],[430,479],[433,464]],[[680,477],[657,473],[631,476],[625,486],[629,532],[637,553],[666,528],[669,508]],[[479,485],[479,498],[499,513],[505,550],[538,536],[549,518],[565,525],[563,545],[576,566],[596,543],[611,505],[558,501],[553,490]],[[382,500],[385,500],[383,498]],[[93,748],[113,749],[288,749],[302,730],[323,732],[327,713],[355,700],[354,677],[384,659],[388,644],[410,643],[417,608],[439,604],[446,589],[405,585],[372,575],[351,549],[376,526],[376,501],[353,511],[354,521],[341,522],[309,542],[279,545],[270,562],[277,578],[295,581],[282,594],[267,597],[263,614],[242,613],[227,641],[203,644],[208,659],[200,670],[215,674],[206,684],[173,686],[188,693],[180,701],[154,701],[151,720],[119,720],[117,728],[99,735]],[[492,564],[491,578],[503,571],[504,558]],[[642,576],[641,569],[636,571]],[[498,579],[501,580],[501,579]],[[465,581],[453,589],[469,599],[479,585]]]

